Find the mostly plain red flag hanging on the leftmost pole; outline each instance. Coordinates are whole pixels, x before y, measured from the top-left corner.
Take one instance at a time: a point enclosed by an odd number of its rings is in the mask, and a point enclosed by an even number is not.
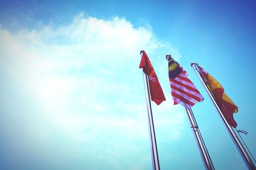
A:
[[[141,53],[142,57],[140,61],[140,68],[143,68],[143,72],[148,76],[151,100],[159,105],[166,100],[163,90],[156,76],[156,72],[154,71],[151,62],[148,59],[147,53],[145,51],[141,51]]]

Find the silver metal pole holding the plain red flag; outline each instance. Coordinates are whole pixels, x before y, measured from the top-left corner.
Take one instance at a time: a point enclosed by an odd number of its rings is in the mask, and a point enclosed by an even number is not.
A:
[[[147,86],[147,87],[145,87],[145,94],[146,94],[147,111],[148,111],[148,125],[149,125],[149,133],[150,133],[152,166],[153,166],[154,170],[160,170],[147,74],[145,74],[143,80],[144,80],[144,85],[146,84],[146,86]],[[146,81],[146,83],[145,83],[145,81]]]

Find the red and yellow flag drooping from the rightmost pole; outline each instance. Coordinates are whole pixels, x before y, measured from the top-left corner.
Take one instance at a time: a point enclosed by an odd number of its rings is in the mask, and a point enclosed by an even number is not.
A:
[[[216,100],[216,103],[220,107],[220,110],[222,111],[228,124],[232,127],[237,127],[237,123],[233,117],[233,114],[237,113],[238,111],[236,104],[234,104],[233,101],[227,96],[221,84],[215,78],[213,78],[211,74],[207,73],[202,67],[198,67],[204,75],[205,80],[207,81],[207,84],[209,85],[209,88],[211,89],[212,94]]]

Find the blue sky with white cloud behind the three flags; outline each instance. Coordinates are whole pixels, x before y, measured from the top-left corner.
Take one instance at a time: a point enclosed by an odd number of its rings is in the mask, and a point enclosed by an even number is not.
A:
[[[256,154],[256,2],[0,1],[0,169],[152,169],[140,50],[166,101],[152,103],[161,169],[204,169],[166,54],[204,96],[192,110],[215,169],[246,169],[197,62],[237,104]]]

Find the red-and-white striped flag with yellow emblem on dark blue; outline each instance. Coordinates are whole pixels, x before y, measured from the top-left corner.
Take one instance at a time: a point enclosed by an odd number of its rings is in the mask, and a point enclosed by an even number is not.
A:
[[[189,80],[188,73],[171,56],[168,57],[168,71],[174,104],[190,108],[196,102],[204,101],[204,97]]]

